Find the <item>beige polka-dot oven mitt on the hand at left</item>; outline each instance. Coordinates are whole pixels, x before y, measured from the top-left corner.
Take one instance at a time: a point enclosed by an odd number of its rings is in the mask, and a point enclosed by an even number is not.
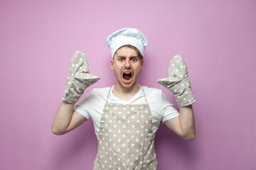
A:
[[[68,103],[75,103],[85,89],[99,79],[100,77],[89,74],[88,60],[85,54],[80,51],[75,52],[70,61],[66,89],[61,99]]]

